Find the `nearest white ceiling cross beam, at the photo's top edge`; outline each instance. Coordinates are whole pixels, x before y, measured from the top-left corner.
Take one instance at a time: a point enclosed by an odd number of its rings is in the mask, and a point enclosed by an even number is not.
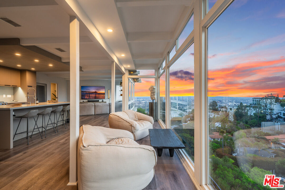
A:
[[[117,7],[185,5],[189,6],[189,0],[117,0]]]

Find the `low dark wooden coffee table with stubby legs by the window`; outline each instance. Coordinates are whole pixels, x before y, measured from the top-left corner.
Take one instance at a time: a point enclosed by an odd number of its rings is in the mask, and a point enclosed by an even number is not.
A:
[[[157,149],[158,156],[162,155],[162,150],[168,148],[170,157],[174,155],[174,149],[185,148],[171,129],[148,129],[150,146]]]

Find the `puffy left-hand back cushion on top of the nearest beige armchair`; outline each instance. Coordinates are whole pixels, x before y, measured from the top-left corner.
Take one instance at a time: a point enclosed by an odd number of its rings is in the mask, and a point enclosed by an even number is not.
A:
[[[82,142],[84,147],[89,145],[106,144],[106,136],[95,126],[83,125]]]

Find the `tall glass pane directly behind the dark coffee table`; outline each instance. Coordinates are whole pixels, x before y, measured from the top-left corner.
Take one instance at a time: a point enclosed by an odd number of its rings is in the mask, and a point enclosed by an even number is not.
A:
[[[194,162],[194,44],[170,67],[170,124]]]

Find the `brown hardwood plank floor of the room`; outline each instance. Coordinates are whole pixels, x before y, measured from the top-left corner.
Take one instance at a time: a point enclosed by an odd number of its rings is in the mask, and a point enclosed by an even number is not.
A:
[[[82,116],[80,125],[109,127],[108,115]],[[160,128],[158,122],[154,128]],[[149,137],[137,141],[150,145]],[[14,141],[13,149],[0,149],[0,190],[76,190],[69,181],[69,126],[59,132],[47,130],[46,138],[39,134]],[[155,166],[155,175],[144,190],[196,189],[178,156],[163,150]]]

